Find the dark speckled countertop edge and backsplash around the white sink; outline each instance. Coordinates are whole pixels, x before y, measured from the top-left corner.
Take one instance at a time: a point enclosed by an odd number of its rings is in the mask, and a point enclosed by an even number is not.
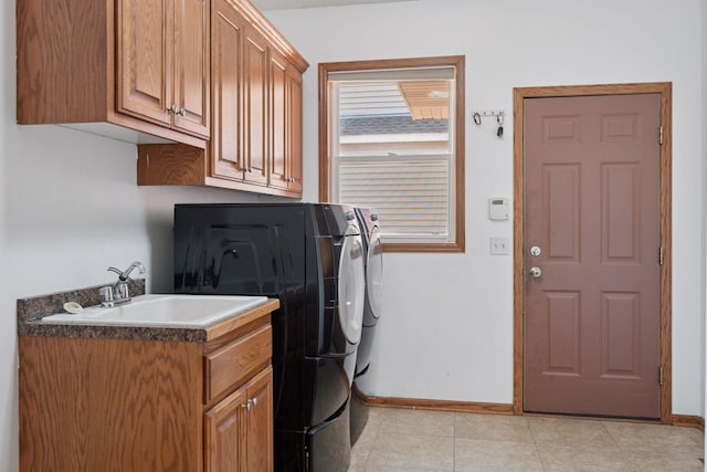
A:
[[[44,316],[65,313],[64,303],[66,302],[76,302],[84,307],[99,305],[101,297],[98,289],[101,286],[103,285],[18,300],[18,335],[176,342],[204,342],[209,337],[205,328],[89,326],[42,323]],[[130,286],[130,294],[133,296],[144,295],[145,280],[134,281]]]

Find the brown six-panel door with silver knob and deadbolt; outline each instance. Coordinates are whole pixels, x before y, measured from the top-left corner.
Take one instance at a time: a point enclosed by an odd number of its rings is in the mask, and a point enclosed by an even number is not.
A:
[[[658,418],[659,95],[524,109],[524,409]]]

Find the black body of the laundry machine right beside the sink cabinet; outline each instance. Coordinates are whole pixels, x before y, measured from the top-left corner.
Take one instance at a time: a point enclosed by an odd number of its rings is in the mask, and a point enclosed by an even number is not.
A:
[[[272,317],[278,471],[348,466],[357,346],[336,308],[341,251],[355,233],[348,211],[314,203],[175,207],[176,293],[281,301]],[[362,277],[362,260],[356,262]]]

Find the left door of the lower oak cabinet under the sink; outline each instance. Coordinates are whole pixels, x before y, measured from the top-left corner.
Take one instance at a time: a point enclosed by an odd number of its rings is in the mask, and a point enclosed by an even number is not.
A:
[[[247,397],[241,388],[204,415],[205,472],[244,471]]]

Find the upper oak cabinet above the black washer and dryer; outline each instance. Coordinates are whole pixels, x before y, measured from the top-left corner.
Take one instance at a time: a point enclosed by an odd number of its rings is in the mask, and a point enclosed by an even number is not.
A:
[[[250,1],[212,0],[210,145],[139,146],[138,183],[300,197],[307,66]]]

